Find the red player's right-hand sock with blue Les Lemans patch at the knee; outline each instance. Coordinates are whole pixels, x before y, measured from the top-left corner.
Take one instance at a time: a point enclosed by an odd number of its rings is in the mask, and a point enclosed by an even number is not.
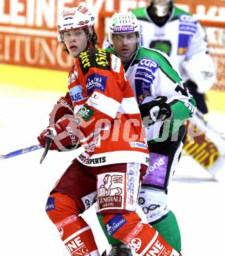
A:
[[[141,223],[135,212],[105,215],[103,223],[108,235],[122,241],[139,255],[179,256],[171,245],[149,224]]]

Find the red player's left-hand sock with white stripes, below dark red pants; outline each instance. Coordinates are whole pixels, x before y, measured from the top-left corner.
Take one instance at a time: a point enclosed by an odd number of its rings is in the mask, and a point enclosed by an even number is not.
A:
[[[70,255],[99,256],[91,227],[78,216],[79,212],[72,198],[56,192],[49,196],[46,211]]]

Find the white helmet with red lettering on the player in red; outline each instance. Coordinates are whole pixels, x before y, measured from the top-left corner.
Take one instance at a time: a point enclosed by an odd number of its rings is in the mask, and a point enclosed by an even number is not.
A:
[[[90,39],[94,33],[93,26],[94,15],[87,9],[87,7],[80,5],[79,7],[65,9],[62,14],[60,14],[57,22],[58,41],[64,41],[64,32],[81,29],[86,30]]]

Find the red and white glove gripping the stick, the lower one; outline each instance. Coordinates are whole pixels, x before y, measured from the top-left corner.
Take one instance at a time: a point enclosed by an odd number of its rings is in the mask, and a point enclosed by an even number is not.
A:
[[[79,129],[77,128],[72,119],[63,119],[52,125],[52,127],[47,127],[37,139],[44,148],[47,137],[51,136],[52,131],[53,140],[49,148],[50,150],[60,150],[70,145],[75,146],[79,142]]]

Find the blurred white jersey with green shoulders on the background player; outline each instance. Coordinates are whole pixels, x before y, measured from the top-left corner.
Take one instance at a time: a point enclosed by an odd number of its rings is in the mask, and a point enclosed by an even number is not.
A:
[[[142,26],[142,46],[167,53],[178,67],[184,81],[188,75],[182,68],[182,62],[194,54],[209,51],[206,33],[192,14],[173,7],[169,20],[163,26],[157,26],[151,20],[146,8],[132,11]]]

